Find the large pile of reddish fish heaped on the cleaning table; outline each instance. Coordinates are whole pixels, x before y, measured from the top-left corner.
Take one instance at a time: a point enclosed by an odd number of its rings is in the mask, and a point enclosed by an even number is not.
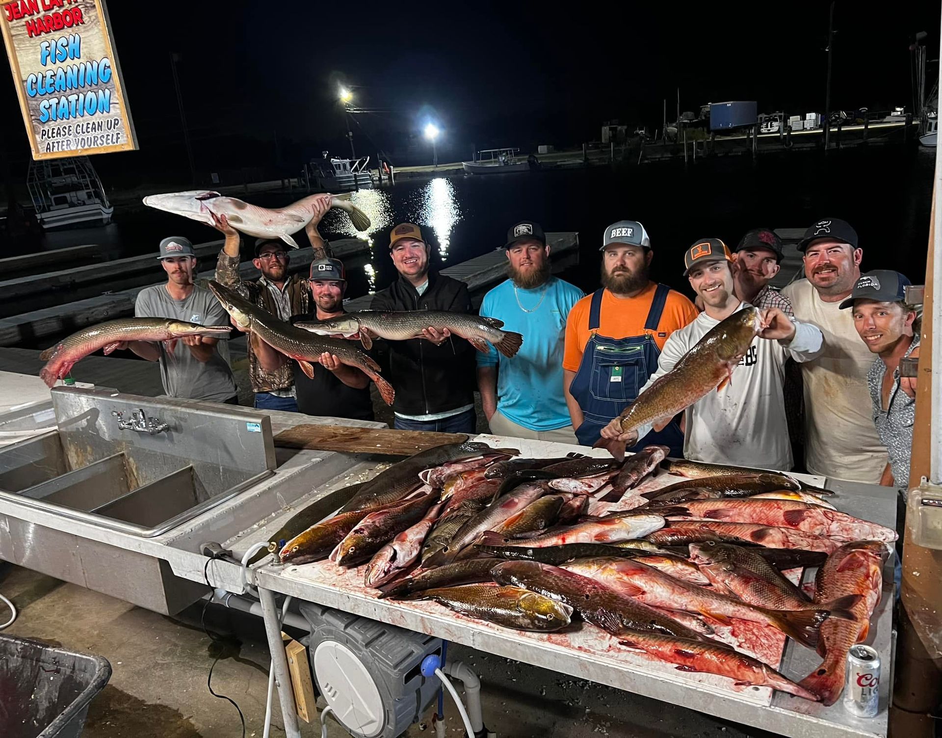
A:
[[[349,488],[332,517],[300,511],[268,550],[282,564],[363,565],[379,598],[433,600],[524,631],[574,630],[580,619],[679,670],[833,704],[897,533],[788,475],[666,451],[616,462],[439,446]],[[808,595],[796,575],[811,566]],[[766,662],[778,663],[784,636],[823,661],[792,681],[720,632],[750,629],[754,643],[779,639]]]

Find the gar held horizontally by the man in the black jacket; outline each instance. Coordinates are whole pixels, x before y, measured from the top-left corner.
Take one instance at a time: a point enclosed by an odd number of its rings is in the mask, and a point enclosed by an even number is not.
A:
[[[524,336],[512,331],[502,331],[503,320],[484,318],[444,310],[408,310],[383,313],[379,310],[357,310],[337,318],[311,320],[297,323],[299,328],[321,336],[360,335],[363,347],[368,351],[373,345],[371,336],[380,336],[390,341],[405,341],[421,338],[422,331],[447,328],[455,336],[461,336],[479,352],[487,353],[489,343],[505,356],[512,357],[520,350]],[[363,329],[366,329],[366,332]],[[367,333],[368,332],[368,333]]]

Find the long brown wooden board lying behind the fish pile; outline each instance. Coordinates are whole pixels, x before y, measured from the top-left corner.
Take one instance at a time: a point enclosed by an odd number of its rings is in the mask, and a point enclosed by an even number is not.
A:
[[[274,441],[275,446],[285,449],[411,456],[433,446],[463,443],[467,439],[467,435],[458,433],[353,428],[347,425],[296,425],[276,435]]]

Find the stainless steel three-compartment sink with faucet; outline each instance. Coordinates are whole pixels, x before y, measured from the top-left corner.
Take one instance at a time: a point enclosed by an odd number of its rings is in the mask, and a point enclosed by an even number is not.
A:
[[[152,537],[275,467],[264,415],[111,390],[52,396],[58,430],[0,449],[0,498]]]

